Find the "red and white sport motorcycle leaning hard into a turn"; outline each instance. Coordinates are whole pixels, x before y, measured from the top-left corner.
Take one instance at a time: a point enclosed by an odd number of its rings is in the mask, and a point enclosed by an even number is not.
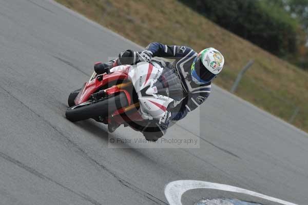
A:
[[[123,124],[143,132],[147,140],[157,140],[164,134],[162,119],[184,96],[175,70],[161,62],[153,58],[104,74],[93,72],[81,89],[70,93],[66,118]],[[109,132],[114,130],[108,126]]]

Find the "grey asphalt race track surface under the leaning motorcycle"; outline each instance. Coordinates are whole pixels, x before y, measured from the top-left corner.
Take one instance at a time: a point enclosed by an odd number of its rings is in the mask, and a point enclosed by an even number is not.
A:
[[[214,86],[166,136],[200,134],[199,149],[110,149],[105,125],[65,118],[67,96],[93,62],[140,47],[52,1],[1,0],[0,26],[0,204],[166,204],[182,179],[307,204],[306,133]],[[182,201],[218,196],[256,199],[199,189]]]

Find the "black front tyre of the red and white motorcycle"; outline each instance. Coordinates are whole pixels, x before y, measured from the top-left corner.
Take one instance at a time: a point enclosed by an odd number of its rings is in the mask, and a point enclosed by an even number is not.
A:
[[[127,106],[126,95],[120,92],[118,95],[102,101],[88,100],[82,104],[72,106],[66,110],[65,115],[70,121],[80,121],[99,116],[107,117],[114,111]]]

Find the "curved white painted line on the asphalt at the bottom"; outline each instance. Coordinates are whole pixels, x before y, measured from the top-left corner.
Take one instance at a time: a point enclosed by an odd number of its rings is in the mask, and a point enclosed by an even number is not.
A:
[[[255,196],[255,197],[262,198],[268,201],[280,203],[283,205],[298,205],[295,203],[284,201],[284,200],[274,198],[271,196],[266,196],[263,194],[259,194],[257,192],[249,191],[249,190],[238,188],[238,187],[233,187],[229,185],[221,185],[220,183],[212,183],[212,182],[207,182],[207,181],[197,181],[197,180],[172,181],[168,183],[165,187],[165,196],[170,205],[182,205],[182,202],[181,202],[182,195],[186,191],[192,190],[192,189],[216,189],[216,190],[221,190],[221,191],[247,194],[247,195]]]

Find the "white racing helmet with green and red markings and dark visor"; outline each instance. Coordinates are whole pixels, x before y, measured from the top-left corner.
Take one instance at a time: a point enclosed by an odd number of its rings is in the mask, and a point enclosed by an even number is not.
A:
[[[191,78],[196,84],[209,83],[223,68],[224,57],[214,49],[207,48],[198,53],[191,65]]]

